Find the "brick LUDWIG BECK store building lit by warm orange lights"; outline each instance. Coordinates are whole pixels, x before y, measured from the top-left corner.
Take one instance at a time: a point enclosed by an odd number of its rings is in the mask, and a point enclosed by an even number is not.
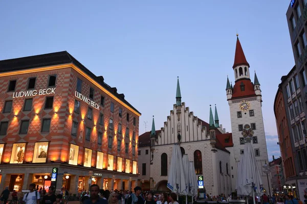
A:
[[[137,185],[141,114],[102,76],[59,52],[0,61],[0,84],[0,189]]]

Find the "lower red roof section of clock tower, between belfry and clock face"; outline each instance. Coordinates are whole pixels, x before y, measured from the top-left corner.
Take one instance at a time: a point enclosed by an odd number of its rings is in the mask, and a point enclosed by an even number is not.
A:
[[[244,85],[244,91],[241,91],[241,85]],[[254,95],[256,95],[256,93],[250,79],[242,79],[235,82],[233,86],[232,99]]]

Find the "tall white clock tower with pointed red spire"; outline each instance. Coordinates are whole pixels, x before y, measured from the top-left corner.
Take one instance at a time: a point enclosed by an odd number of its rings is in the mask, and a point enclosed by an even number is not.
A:
[[[254,132],[252,146],[254,155],[258,164],[264,188],[269,193],[269,185],[267,174],[262,167],[268,162],[268,151],[265,136],[264,121],[262,119],[262,96],[260,84],[255,72],[254,83],[250,79],[250,65],[247,62],[238,35],[236,40],[235,56],[233,63],[234,81],[232,87],[227,77],[226,95],[230,109],[231,130],[233,149],[231,149],[232,157],[231,169],[232,189],[235,189],[237,176],[237,162],[240,156],[244,154],[244,137],[242,135],[245,126],[249,125]]]

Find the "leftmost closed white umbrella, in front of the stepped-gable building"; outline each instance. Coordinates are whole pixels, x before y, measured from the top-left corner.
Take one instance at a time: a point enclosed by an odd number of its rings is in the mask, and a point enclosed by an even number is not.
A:
[[[184,178],[183,162],[180,146],[174,144],[167,179],[167,188],[177,195],[185,195],[186,183]]]

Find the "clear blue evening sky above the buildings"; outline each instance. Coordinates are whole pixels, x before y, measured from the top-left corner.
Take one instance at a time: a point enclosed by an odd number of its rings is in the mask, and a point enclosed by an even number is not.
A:
[[[182,101],[209,121],[216,104],[231,132],[226,100],[236,33],[261,84],[269,159],[280,156],[274,98],[294,66],[286,12],[290,0],[271,1],[1,1],[0,60],[67,50],[137,108],[140,135],[156,129]]]

